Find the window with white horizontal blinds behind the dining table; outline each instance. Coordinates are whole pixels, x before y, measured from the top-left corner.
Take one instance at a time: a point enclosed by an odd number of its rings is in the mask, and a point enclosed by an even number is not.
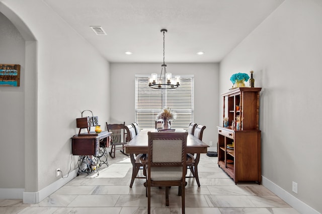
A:
[[[140,128],[154,128],[158,113],[170,108],[177,113],[172,128],[188,129],[194,114],[194,76],[180,78],[176,89],[153,89],[148,86],[147,75],[135,76],[135,121]]]

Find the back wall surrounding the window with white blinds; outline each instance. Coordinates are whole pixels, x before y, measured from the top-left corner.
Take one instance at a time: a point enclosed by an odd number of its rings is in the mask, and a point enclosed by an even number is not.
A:
[[[169,63],[167,71],[176,75],[193,74],[194,121],[206,126],[203,141],[216,147],[218,134],[218,75],[216,63]],[[159,73],[160,63],[111,63],[111,123],[135,122],[135,74]],[[209,149],[214,151],[214,149]]]

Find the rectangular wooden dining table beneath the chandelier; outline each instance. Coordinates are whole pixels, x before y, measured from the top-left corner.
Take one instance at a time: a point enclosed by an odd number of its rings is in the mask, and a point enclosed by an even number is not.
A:
[[[175,129],[175,132],[187,132],[184,129]],[[157,129],[142,129],[135,137],[132,138],[125,145],[125,151],[130,155],[132,166],[135,167],[135,154],[147,154],[148,150],[148,132],[158,132]],[[200,160],[201,153],[207,153],[208,144],[199,140],[192,134],[188,134],[187,137],[187,153],[196,154],[195,165],[197,166]]]

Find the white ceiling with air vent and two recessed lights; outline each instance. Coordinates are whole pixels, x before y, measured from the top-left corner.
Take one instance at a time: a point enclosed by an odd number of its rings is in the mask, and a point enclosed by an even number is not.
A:
[[[43,1],[109,62],[162,63],[165,28],[166,63],[201,63],[220,62],[284,0]]]

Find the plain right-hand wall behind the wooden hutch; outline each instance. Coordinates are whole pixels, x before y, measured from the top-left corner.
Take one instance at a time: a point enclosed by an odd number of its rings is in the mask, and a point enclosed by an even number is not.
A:
[[[221,93],[231,87],[233,73],[254,70],[255,86],[263,88],[262,175],[287,191],[289,197],[283,199],[297,198],[319,212],[321,21],[321,1],[286,0],[224,58],[219,89]],[[298,183],[298,194],[292,192],[292,181]]]

